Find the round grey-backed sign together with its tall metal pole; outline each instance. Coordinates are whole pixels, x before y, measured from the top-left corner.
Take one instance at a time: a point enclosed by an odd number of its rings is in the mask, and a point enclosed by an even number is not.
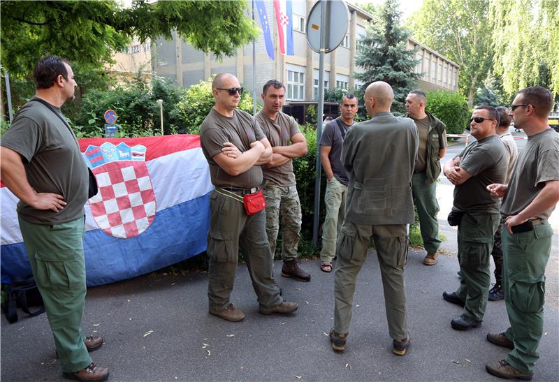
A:
[[[345,16],[345,17],[344,17]],[[349,12],[344,1],[319,0],[307,17],[307,43],[319,54],[319,104],[317,110],[317,177],[314,180],[314,221],[312,242],[319,241],[320,221],[320,137],[324,120],[324,54],[332,52],[344,40],[349,25]]]

